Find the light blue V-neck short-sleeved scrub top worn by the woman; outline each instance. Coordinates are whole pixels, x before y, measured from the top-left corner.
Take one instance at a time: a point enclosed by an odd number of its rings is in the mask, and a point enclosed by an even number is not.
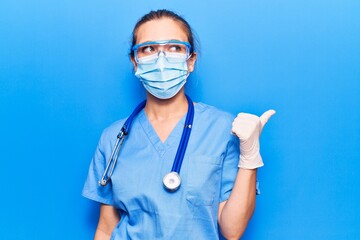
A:
[[[142,110],[120,150],[112,180],[102,187],[98,181],[126,119],[105,129],[82,194],[119,210],[121,220],[111,239],[219,239],[219,203],[229,198],[238,172],[233,119],[215,107],[195,105],[182,183],[173,193],[164,189],[162,178],[171,170],[185,116],[163,143]]]

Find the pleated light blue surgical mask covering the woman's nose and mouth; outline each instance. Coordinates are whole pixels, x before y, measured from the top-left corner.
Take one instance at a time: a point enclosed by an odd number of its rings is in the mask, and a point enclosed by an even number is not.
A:
[[[189,75],[186,59],[176,61],[161,53],[156,57],[156,61],[140,61],[135,76],[153,96],[160,99],[172,98],[185,85]]]

